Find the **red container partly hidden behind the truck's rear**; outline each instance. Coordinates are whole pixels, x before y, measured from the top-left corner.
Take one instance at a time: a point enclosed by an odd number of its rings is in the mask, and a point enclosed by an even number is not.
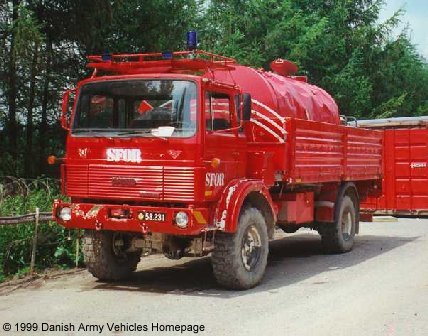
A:
[[[428,117],[362,120],[383,131],[382,188],[361,203],[366,214],[428,215]]]

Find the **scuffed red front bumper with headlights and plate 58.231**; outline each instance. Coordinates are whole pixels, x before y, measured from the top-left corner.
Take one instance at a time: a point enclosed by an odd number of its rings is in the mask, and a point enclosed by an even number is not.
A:
[[[60,210],[64,207],[71,209],[71,219],[64,221],[58,217]],[[112,216],[113,212],[123,210],[125,218]],[[56,200],[53,204],[53,216],[56,222],[69,229],[91,229],[91,230],[111,230],[130,231],[140,233],[166,233],[173,235],[199,235],[209,229],[209,209],[208,208],[169,208],[151,207],[138,205],[117,205],[117,204],[94,204],[94,203],[66,203]],[[175,214],[184,211],[189,217],[186,228],[179,228],[175,225]],[[144,220],[141,216],[144,212],[157,212],[165,214],[165,220]]]

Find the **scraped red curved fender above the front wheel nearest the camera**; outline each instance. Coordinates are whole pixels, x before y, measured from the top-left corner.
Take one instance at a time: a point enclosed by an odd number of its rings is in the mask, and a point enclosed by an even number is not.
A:
[[[242,205],[251,192],[259,192],[263,196],[276,223],[276,207],[263,181],[238,179],[230,181],[220,197],[214,212],[214,224],[217,229],[230,233],[236,231]]]

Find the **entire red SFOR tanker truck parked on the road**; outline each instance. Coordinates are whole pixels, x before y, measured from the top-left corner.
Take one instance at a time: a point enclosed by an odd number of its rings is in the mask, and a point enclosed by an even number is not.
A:
[[[293,63],[270,72],[190,50],[90,56],[88,67],[63,97],[71,202],[53,214],[85,230],[95,277],[122,279],[151,251],[211,253],[219,284],[251,288],[275,226],[317,230],[328,253],[352,249],[382,175],[382,133],[341,125]]]

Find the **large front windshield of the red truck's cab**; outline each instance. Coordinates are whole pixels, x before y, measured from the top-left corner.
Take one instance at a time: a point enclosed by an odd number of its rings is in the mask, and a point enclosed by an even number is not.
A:
[[[196,131],[196,85],[126,80],[82,86],[73,134],[189,137]]]

